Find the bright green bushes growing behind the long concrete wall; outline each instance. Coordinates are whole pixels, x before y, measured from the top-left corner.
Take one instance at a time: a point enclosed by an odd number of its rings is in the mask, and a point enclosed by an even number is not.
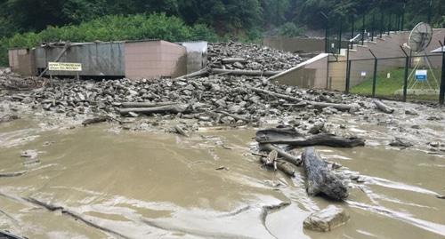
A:
[[[33,47],[43,42],[70,41],[92,42],[163,39],[171,42],[188,40],[215,41],[214,31],[206,25],[187,26],[177,17],[166,14],[135,14],[131,16],[112,15],[79,25],[49,27],[40,33],[16,34],[0,40],[0,65],[7,65],[7,49]]]

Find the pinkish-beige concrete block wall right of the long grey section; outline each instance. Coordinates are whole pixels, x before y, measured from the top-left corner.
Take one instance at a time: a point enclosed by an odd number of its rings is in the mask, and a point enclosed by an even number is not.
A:
[[[177,77],[187,73],[186,48],[165,41],[125,43],[128,78]]]

